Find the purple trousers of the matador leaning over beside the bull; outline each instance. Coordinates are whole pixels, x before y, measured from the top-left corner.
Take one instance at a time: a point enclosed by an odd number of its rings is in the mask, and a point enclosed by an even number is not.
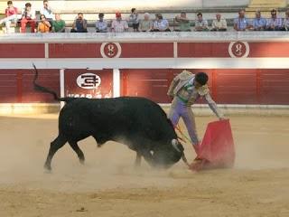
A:
[[[181,99],[175,97],[172,100],[168,118],[171,119],[173,127],[175,127],[180,118],[182,118],[191,137],[192,145],[197,146],[199,144],[200,141],[196,131],[195,117],[191,111],[191,106],[187,106]]]

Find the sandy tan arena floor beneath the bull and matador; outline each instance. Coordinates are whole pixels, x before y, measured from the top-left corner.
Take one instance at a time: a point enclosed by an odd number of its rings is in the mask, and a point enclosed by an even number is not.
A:
[[[0,216],[289,216],[289,117],[230,117],[234,169],[192,173],[182,162],[139,170],[135,153],[80,142],[86,165],[66,145],[42,165],[57,115],[0,117]],[[200,137],[213,117],[197,117]],[[185,146],[187,157],[194,155]]]

